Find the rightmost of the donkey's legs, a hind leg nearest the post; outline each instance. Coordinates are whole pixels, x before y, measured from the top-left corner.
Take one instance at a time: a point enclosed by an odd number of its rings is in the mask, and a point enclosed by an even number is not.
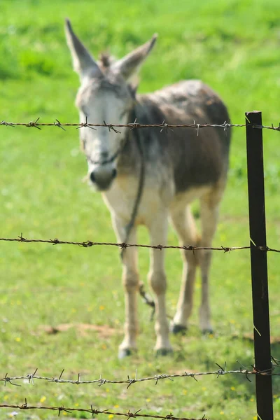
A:
[[[200,199],[202,241],[201,246],[211,246],[217,221],[218,207],[221,201],[223,189],[217,188]],[[209,269],[211,265],[211,250],[198,251],[198,258],[202,273],[202,297],[200,306],[200,328],[202,332],[212,332],[211,311],[209,304]]]

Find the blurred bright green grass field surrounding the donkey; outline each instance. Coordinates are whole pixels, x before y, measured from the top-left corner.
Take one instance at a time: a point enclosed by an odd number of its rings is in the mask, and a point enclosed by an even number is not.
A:
[[[190,4],[188,4],[190,3]],[[228,104],[232,123],[259,109],[263,123],[279,124],[279,0],[70,1],[1,0],[0,121],[78,122],[74,98],[78,77],[64,41],[68,16],[95,56],[110,47],[124,55],[154,32],[159,40],[141,71],[140,91],[182,78],[201,78]],[[39,131],[0,127],[1,237],[115,241],[109,211],[81,179],[86,173],[78,133],[56,127]],[[279,132],[265,130],[265,186],[268,245],[279,248]],[[248,244],[245,130],[233,130],[228,188],[214,245]],[[144,229],[139,241],[148,242]],[[170,229],[169,244],[177,244]],[[271,332],[280,337],[279,256],[269,257]],[[124,297],[117,248],[50,246],[1,242],[0,377],[34,372],[65,379],[126,379],[160,373],[228,369],[253,364],[249,253],[214,253],[211,306],[215,335],[202,337],[197,308],[186,337],[172,337],[174,355],[155,358],[150,311],[139,302],[139,352],[119,361]],[[148,251],[140,251],[146,281]],[[167,304],[174,314],[181,281],[181,255],[167,251]],[[63,325],[62,325],[63,324]],[[51,328],[61,332],[50,334]],[[93,327],[92,327],[93,325]],[[94,325],[99,326],[94,329]],[[101,328],[102,327],[102,328]],[[272,354],[280,357],[279,344]],[[179,378],[132,385],[75,386],[35,381],[4,384],[0,402],[93,407],[126,412],[211,419],[257,419],[254,383],[245,377]],[[52,419],[57,413],[1,409],[0,418]],[[280,381],[274,380],[274,414],[280,418]],[[90,414],[65,413],[67,418]],[[108,416],[99,416],[108,418]],[[112,418],[110,416],[109,418]]]

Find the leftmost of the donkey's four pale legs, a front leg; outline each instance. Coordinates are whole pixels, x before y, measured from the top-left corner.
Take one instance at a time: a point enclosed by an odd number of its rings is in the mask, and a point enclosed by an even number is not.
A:
[[[118,241],[125,241],[125,221],[113,217],[113,227]],[[129,241],[137,241],[136,228],[132,228]],[[137,293],[139,290],[139,274],[137,267],[137,248],[126,248],[123,253],[123,286],[125,288],[125,337],[119,346],[119,358],[129,356],[137,349],[138,333]]]

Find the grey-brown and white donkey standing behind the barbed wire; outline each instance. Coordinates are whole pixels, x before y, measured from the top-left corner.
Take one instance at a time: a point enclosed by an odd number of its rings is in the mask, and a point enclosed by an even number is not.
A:
[[[85,123],[86,118],[92,124],[106,121],[118,125],[133,123],[135,119],[141,124],[165,121],[173,125],[193,124],[194,120],[217,125],[229,121],[221,99],[200,80],[185,80],[150,94],[137,94],[131,80],[155,45],[155,35],[122,59],[102,55],[97,62],[74,34],[69,20],[66,20],[65,31],[73,68],[80,76],[76,106],[81,123]],[[84,125],[79,132],[87,158],[88,182],[102,192],[118,241],[136,243],[137,226],[145,225],[152,245],[166,244],[170,218],[181,245],[211,246],[228,172],[230,130],[225,132],[219,127],[204,127],[199,133],[191,127],[92,130]],[[139,191],[141,162],[144,162],[144,188],[127,237],[127,225],[131,223]],[[201,204],[201,237],[190,210],[195,199]],[[187,328],[193,308],[195,272],[199,266],[202,274],[200,328],[211,332],[211,251],[183,251],[182,255],[183,281],[171,331],[184,332]],[[172,351],[165,304],[164,249],[151,249],[148,281],[155,294],[155,351],[164,355]],[[119,347],[120,358],[137,349],[139,272],[134,247],[127,248],[123,255],[123,286],[125,337]]]

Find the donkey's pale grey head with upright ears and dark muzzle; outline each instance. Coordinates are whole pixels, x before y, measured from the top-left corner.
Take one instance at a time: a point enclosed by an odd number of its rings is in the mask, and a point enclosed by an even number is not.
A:
[[[69,20],[66,39],[73,58],[73,68],[80,76],[76,106],[80,123],[127,124],[134,103],[130,78],[153,48],[156,36],[122,59],[114,61],[102,55],[96,62],[74,34]],[[125,139],[125,130],[108,127],[80,128],[80,140],[87,157],[89,179],[97,190],[108,190],[117,175],[118,152]]]

